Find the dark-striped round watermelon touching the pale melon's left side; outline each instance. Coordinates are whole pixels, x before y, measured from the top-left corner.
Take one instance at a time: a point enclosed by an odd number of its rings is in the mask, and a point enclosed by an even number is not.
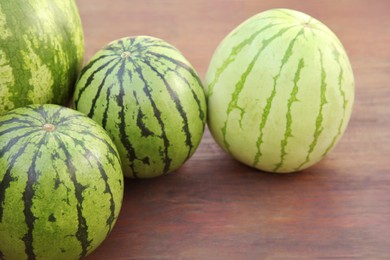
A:
[[[103,126],[129,178],[170,173],[197,149],[206,123],[203,85],[172,45],[118,39],[82,69],[73,107]]]

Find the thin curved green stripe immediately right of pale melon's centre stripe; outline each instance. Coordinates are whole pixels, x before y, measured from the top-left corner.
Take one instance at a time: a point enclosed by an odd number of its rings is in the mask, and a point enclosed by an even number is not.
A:
[[[313,141],[309,145],[309,151],[306,155],[305,161],[302,162],[301,164],[299,164],[299,166],[295,169],[296,171],[299,171],[306,163],[308,163],[310,161],[310,156],[313,153],[314,148],[317,145],[318,139],[319,139],[322,131],[324,130],[324,128],[322,126],[322,122],[324,120],[324,116],[323,116],[324,106],[327,103],[327,100],[326,100],[327,83],[326,83],[326,72],[325,72],[325,67],[324,67],[323,54],[322,54],[321,50],[318,50],[318,52],[319,52],[320,65],[321,65],[320,108],[319,108],[318,115],[317,115],[316,122],[315,122]]]

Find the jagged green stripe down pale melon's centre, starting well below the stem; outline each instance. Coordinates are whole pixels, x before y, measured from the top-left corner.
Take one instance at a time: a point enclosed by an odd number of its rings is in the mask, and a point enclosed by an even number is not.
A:
[[[290,137],[293,137],[293,133],[292,133],[292,121],[293,121],[293,118],[292,118],[292,106],[293,106],[293,103],[294,102],[297,102],[298,99],[297,99],[297,94],[298,94],[298,91],[299,91],[299,88],[298,88],[298,81],[300,79],[300,75],[301,75],[301,71],[302,71],[302,68],[305,66],[305,63],[304,63],[304,60],[303,58],[301,58],[299,60],[299,63],[298,63],[298,68],[295,72],[295,76],[294,76],[294,86],[293,86],[293,89],[290,93],[290,98],[287,102],[287,114],[286,114],[286,129],[284,131],[284,137],[282,139],[282,141],[280,142],[280,146],[281,146],[281,151],[280,151],[280,162],[276,164],[275,168],[274,168],[274,172],[277,172],[282,166],[283,166],[283,163],[284,163],[284,159],[287,155],[287,152],[286,152],[286,146],[288,144],[288,139]]]

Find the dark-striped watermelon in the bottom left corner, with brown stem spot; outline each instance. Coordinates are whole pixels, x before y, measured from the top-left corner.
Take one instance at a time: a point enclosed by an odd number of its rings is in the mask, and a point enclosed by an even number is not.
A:
[[[116,147],[82,113],[30,105],[0,117],[0,259],[78,259],[123,198]]]

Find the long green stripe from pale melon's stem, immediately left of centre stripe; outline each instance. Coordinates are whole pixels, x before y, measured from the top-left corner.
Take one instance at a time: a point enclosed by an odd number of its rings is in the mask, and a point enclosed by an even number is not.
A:
[[[287,29],[289,29],[289,28],[287,28]],[[288,45],[288,47],[283,55],[281,65],[279,67],[279,72],[278,72],[278,74],[276,74],[273,77],[272,92],[271,92],[271,95],[267,98],[267,104],[263,110],[262,118],[261,118],[261,122],[260,122],[260,126],[259,126],[259,136],[258,136],[257,141],[256,141],[257,151],[256,151],[256,154],[255,154],[254,159],[253,159],[253,166],[256,166],[259,163],[260,158],[262,156],[261,145],[263,144],[264,127],[267,123],[268,116],[269,116],[269,113],[271,111],[272,102],[273,102],[275,95],[276,95],[277,81],[280,77],[280,74],[282,73],[283,67],[287,64],[288,60],[290,59],[291,55],[293,54],[293,48],[294,48],[294,44],[295,44],[297,38],[301,35],[303,35],[303,30],[300,30],[298,32],[298,34],[293,38],[293,40],[289,43],[289,45]]]

